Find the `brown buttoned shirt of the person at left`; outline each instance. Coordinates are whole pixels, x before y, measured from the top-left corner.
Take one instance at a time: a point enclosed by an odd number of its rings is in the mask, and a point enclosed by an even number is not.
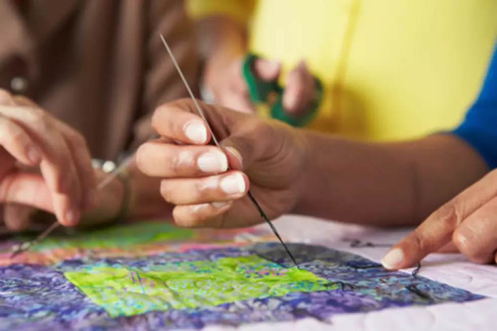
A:
[[[196,90],[182,0],[0,0],[0,88],[79,130],[93,157],[116,159],[150,136],[158,104],[188,96],[159,32]]]

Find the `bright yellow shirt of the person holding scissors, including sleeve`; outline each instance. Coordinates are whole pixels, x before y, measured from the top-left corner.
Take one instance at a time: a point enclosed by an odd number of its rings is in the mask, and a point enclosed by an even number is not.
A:
[[[368,140],[455,126],[497,38],[496,0],[188,0],[192,16],[250,22],[250,49],[305,59],[326,95],[309,128]]]

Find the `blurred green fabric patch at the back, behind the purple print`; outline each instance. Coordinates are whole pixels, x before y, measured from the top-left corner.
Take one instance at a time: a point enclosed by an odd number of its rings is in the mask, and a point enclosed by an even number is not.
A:
[[[85,231],[70,236],[49,236],[32,247],[33,251],[54,248],[124,248],[160,241],[182,241],[193,237],[193,231],[166,222],[140,222]]]

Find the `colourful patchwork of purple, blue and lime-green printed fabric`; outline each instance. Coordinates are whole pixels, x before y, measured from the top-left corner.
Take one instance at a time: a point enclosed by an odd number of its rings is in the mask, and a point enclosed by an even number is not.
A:
[[[0,329],[202,329],[463,303],[484,297],[359,254],[272,234],[165,222],[52,236],[10,260],[0,246]]]

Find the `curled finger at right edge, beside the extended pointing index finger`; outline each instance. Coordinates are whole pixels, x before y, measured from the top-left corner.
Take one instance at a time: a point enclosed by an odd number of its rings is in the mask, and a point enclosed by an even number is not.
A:
[[[452,236],[459,251],[476,263],[494,259],[497,249],[497,198],[471,214]]]

